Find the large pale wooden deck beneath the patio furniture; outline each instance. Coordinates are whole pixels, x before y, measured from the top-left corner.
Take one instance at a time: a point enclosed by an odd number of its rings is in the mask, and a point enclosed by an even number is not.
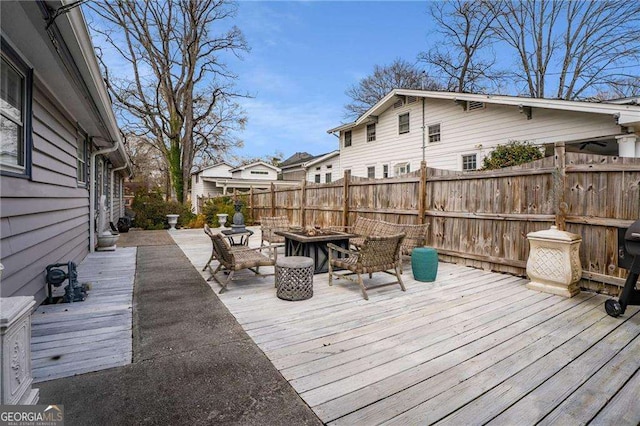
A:
[[[204,233],[173,237],[201,270]],[[244,272],[219,297],[329,424],[640,423],[638,307],[614,319],[592,293],[565,299],[453,264],[423,283],[410,269],[407,292],[369,301],[327,274],[306,301],[279,300],[272,277]]]

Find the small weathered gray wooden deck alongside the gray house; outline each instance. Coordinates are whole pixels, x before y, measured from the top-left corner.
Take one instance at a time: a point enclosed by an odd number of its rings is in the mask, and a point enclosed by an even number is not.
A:
[[[34,311],[34,382],[131,363],[135,267],[135,247],[92,253],[78,265],[78,281],[91,283],[87,299]],[[56,292],[64,293],[63,286]]]

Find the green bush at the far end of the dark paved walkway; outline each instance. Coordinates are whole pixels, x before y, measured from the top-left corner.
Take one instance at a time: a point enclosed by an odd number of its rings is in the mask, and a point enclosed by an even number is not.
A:
[[[167,229],[168,214],[178,214],[178,226],[185,226],[195,217],[191,207],[174,201],[165,201],[160,192],[136,192],[132,210],[135,213],[134,225],[142,229]]]

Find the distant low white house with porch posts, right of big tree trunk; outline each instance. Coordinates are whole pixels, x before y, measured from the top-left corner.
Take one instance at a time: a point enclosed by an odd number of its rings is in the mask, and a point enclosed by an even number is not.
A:
[[[244,166],[233,167],[221,162],[191,174],[191,209],[201,213],[200,204],[203,198],[233,194],[235,191],[247,192],[251,188],[269,189],[271,184],[291,186],[296,182],[278,180],[280,168],[257,161]]]

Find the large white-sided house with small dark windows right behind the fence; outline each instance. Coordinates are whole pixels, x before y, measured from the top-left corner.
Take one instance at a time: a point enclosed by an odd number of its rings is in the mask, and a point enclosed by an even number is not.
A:
[[[512,140],[567,150],[640,157],[636,98],[591,103],[514,96],[395,89],[340,137],[342,170],[392,177],[429,167],[475,170],[498,144]]]

